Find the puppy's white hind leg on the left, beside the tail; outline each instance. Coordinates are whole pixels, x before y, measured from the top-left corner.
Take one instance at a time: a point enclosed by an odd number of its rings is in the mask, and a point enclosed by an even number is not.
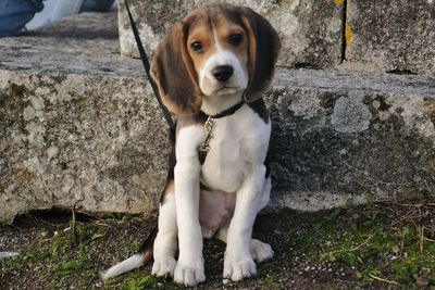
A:
[[[167,184],[163,194],[159,210],[159,231],[153,247],[154,264],[151,272],[157,277],[174,276],[176,265],[174,256],[177,249],[177,223],[173,180]]]

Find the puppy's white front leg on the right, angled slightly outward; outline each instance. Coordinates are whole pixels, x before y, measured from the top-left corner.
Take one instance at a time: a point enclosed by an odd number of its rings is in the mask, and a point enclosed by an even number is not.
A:
[[[227,234],[223,275],[233,281],[251,277],[257,273],[249,245],[264,176],[265,166],[254,166],[236,193],[236,209]]]

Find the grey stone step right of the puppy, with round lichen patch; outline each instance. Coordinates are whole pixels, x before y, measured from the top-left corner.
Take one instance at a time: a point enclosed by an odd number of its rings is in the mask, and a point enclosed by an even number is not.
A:
[[[272,111],[273,205],[435,196],[435,78],[279,71]]]

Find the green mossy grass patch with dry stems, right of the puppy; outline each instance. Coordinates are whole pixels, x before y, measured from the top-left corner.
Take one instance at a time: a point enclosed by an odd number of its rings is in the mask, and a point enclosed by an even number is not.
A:
[[[307,225],[291,223],[286,228],[294,237],[289,251],[307,265],[320,262],[347,269],[355,279],[351,288],[374,282],[435,286],[435,225],[417,214],[417,207],[411,210],[401,209],[388,217],[382,205],[347,205],[304,220]],[[435,215],[434,206],[427,211]],[[264,267],[260,273],[272,273],[269,268],[277,265],[272,262]]]

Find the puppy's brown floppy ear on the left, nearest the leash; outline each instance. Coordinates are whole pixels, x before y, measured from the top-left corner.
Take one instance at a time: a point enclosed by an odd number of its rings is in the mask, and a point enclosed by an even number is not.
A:
[[[160,42],[151,62],[151,77],[167,109],[178,116],[191,116],[201,109],[201,92],[187,51],[188,24],[175,23]]]

